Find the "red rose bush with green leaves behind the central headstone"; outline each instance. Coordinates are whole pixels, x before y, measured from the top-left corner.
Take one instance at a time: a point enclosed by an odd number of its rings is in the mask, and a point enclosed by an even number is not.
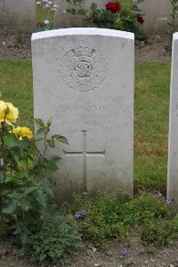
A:
[[[85,11],[82,4],[85,0],[66,0],[69,4],[76,4],[77,9],[67,9],[67,12],[84,15],[88,21],[88,27],[112,28],[133,32],[138,39],[142,38],[142,18],[138,4],[144,0],[130,1],[128,4],[120,4],[120,1],[111,1],[100,10],[97,4],[91,4],[90,11]]]

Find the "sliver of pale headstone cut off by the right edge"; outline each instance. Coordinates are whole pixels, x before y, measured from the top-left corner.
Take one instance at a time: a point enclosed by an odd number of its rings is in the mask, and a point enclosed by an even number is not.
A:
[[[178,204],[178,33],[173,36],[167,198]]]

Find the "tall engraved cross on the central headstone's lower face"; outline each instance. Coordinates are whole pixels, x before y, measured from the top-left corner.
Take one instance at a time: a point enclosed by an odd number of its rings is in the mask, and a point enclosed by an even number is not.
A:
[[[83,156],[83,185],[84,185],[84,190],[87,191],[87,178],[86,178],[86,156],[91,155],[91,156],[103,156],[105,157],[105,152],[104,151],[87,151],[86,150],[86,131],[82,130],[83,133],[83,151],[64,151],[65,156],[74,156],[74,155],[81,155]]]

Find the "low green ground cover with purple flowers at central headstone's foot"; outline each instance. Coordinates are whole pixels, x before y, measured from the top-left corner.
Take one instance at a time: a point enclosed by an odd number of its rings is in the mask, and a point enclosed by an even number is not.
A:
[[[126,202],[99,194],[95,198],[76,196],[67,211],[74,214],[85,238],[101,244],[104,239],[124,240],[139,225],[169,217],[170,207],[163,198],[151,194]]]

